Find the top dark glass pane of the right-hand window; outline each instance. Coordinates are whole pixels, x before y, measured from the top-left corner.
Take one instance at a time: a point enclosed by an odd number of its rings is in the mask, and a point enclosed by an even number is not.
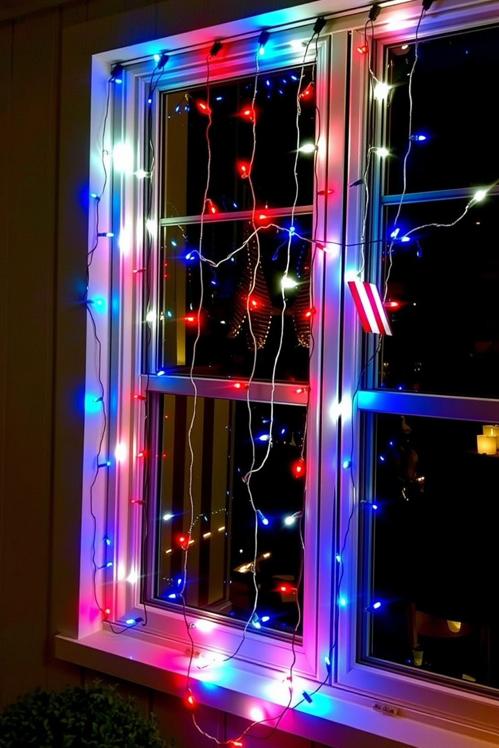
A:
[[[404,49],[404,46],[407,47]],[[408,146],[408,75],[414,44],[388,52],[388,192],[402,192]],[[420,41],[413,76],[412,133],[407,190],[486,186],[499,177],[495,91],[499,76],[499,28],[482,28]]]

